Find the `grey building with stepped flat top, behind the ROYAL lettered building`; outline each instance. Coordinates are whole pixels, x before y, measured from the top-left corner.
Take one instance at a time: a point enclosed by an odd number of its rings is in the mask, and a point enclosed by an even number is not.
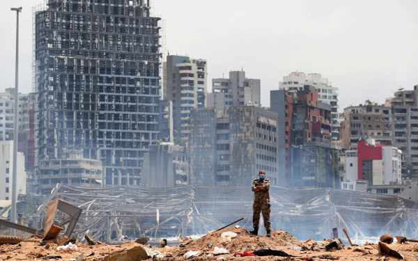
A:
[[[228,109],[231,106],[261,106],[260,79],[247,79],[244,71],[229,72],[229,79],[212,79],[208,108]]]

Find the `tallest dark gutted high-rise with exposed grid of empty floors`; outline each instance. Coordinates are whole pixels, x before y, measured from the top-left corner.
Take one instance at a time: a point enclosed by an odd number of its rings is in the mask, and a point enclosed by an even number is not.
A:
[[[82,150],[104,186],[139,186],[160,119],[160,18],[149,0],[49,0],[35,14],[36,164]]]

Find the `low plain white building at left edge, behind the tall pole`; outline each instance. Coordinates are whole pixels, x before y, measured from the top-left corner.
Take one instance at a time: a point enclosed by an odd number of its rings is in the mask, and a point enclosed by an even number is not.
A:
[[[24,155],[17,152],[16,196],[26,194]],[[0,141],[0,200],[12,200],[13,141]]]

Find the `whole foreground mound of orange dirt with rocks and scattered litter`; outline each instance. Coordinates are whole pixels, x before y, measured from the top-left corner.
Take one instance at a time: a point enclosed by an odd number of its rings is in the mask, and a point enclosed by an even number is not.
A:
[[[229,232],[226,233],[225,232]],[[229,235],[225,242],[222,234]],[[236,236],[235,236],[236,235]],[[31,237],[17,244],[1,244],[0,260],[417,260],[418,244],[383,242],[343,246],[339,239],[300,242],[283,230],[272,237],[254,236],[242,228],[226,228],[200,239],[180,239],[177,246],[153,248],[135,242],[121,245],[95,242],[89,246],[75,238],[43,240]],[[336,242],[338,244],[336,244]],[[252,256],[251,256],[252,255]],[[256,255],[254,257],[254,255]],[[260,256],[263,255],[263,256]]]

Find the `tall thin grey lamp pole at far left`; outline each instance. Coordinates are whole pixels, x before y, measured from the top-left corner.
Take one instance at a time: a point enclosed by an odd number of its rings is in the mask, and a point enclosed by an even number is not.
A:
[[[17,138],[19,136],[19,121],[17,117],[19,116],[19,13],[22,12],[22,7],[20,8],[11,8],[10,10],[16,11],[16,68],[15,68],[15,126],[13,134],[13,176],[12,176],[12,209],[10,214],[10,221],[16,223],[16,200],[17,200]],[[12,228],[10,230],[12,236],[16,235],[16,230]]]

